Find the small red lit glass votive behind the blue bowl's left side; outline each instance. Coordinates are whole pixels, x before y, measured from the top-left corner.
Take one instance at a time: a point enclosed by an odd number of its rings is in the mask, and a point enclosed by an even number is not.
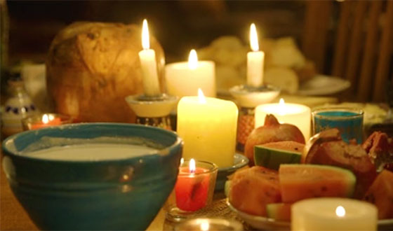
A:
[[[72,117],[56,113],[44,113],[22,119],[23,130],[37,130],[72,123]]]

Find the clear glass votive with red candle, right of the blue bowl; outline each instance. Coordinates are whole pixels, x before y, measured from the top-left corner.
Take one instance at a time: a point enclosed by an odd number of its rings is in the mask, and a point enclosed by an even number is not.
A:
[[[184,160],[180,163],[175,188],[165,206],[166,218],[169,221],[185,221],[213,201],[217,165],[195,160],[195,170],[190,171],[192,161]]]

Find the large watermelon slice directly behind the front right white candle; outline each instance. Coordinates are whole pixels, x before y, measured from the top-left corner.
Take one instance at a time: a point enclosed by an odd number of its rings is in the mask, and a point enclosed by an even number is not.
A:
[[[281,165],[279,179],[286,203],[312,197],[351,197],[356,183],[349,170],[328,165]]]

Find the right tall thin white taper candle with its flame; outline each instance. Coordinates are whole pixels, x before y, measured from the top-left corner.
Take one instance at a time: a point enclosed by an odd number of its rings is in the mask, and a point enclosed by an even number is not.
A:
[[[263,64],[265,62],[265,52],[258,51],[258,35],[255,24],[250,27],[251,50],[247,53],[247,85],[260,87],[263,84]]]

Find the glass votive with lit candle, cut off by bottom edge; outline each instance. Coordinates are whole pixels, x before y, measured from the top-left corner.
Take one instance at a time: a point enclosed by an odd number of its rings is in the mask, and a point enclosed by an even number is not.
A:
[[[243,230],[243,225],[239,221],[226,220],[222,218],[196,218],[190,219],[175,226],[175,231],[221,231],[221,230]]]

